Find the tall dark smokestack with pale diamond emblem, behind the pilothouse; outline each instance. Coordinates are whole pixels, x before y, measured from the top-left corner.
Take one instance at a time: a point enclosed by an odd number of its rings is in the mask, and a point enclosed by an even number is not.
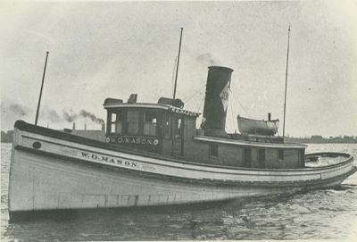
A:
[[[204,135],[228,137],[225,127],[232,71],[222,66],[208,67],[202,124]]]

